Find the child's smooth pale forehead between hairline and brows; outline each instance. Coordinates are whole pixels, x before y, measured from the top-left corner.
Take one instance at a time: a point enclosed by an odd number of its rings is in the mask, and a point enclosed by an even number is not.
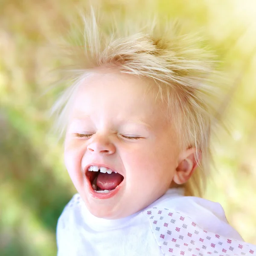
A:
[[[76,93],[73,113],[95,116],[114,113],[116,118],[159,116],[164,105],[156,95],[157,86],[149,79],[113,71],[92,73]]]

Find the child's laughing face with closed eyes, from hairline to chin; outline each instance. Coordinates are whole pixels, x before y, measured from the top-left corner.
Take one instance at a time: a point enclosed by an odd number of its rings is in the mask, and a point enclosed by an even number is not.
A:
[[[169,189],[175,175],[175,132],[166,106],[152,90],[146,93],[148,83],[128,74],[99,72],[75,96],[65,164],[87,208],[100,218],[122,218],[147,207]],[[113,172],[90,172],[90,166]]]

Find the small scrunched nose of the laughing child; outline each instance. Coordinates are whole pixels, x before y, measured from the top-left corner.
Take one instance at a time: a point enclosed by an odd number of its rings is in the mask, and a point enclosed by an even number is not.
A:
[[[94,139],[87,145],[87,150],[92,153],[113,154],[116,147],[107,137],[95,135]]]

